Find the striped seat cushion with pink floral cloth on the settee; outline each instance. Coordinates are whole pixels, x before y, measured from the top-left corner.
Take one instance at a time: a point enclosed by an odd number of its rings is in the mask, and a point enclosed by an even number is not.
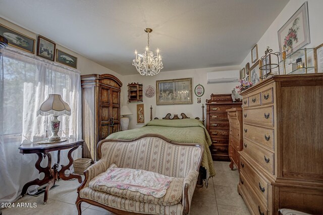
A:
[[[116,183],[117,180],[120,180],[119,184]],[[142,181],[141,186],[140,181]],[[90,181],[89,188],[140,202],[175,205],[182,199],[183,181],[184,178],[167,177],[143,170],[117,168],[115,164],[112,164],[106,172]]]

